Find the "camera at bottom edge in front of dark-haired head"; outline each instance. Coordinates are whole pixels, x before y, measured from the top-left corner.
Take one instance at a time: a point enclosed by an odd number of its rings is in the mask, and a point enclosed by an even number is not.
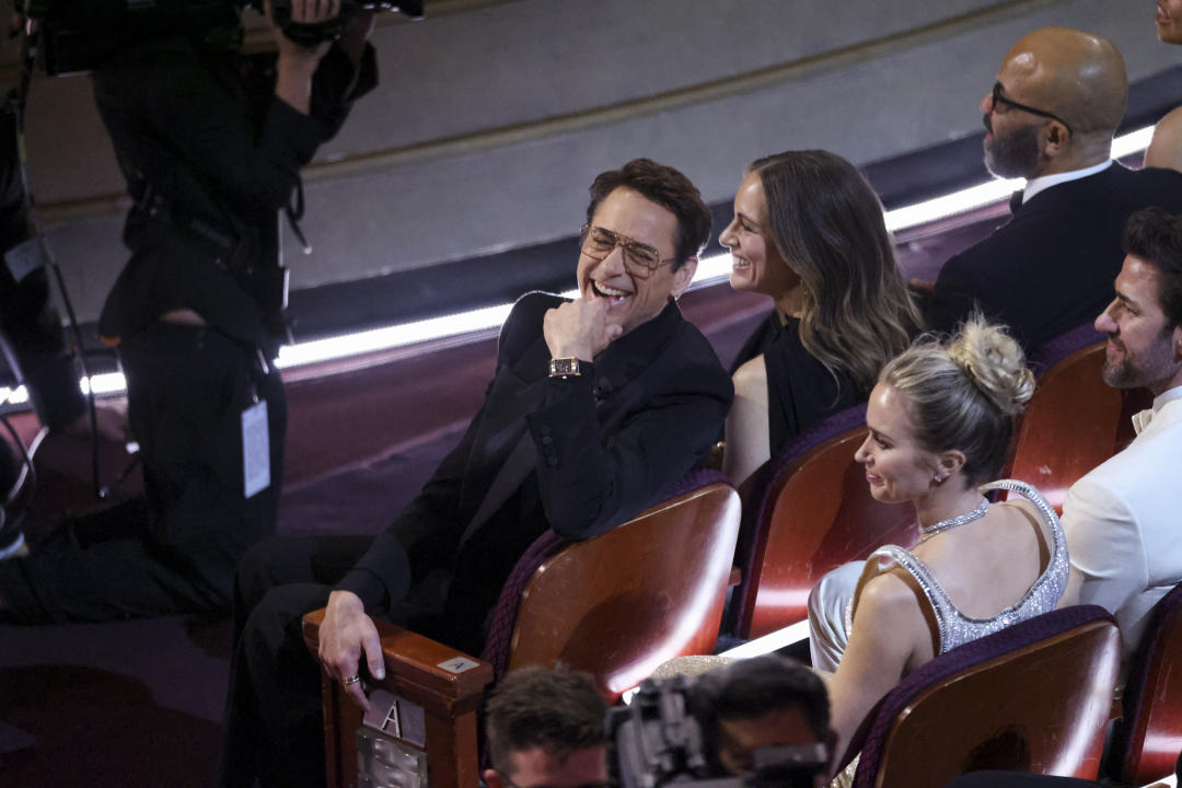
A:
[[[753,774],[728,776],[717,764],[709,699],[683,676],[645,679],[628,706],[608,711],[608,766],[621,788],[669,783],[701,788],[812,788],[829,768],[823,743],[765,747],[753,754]]]

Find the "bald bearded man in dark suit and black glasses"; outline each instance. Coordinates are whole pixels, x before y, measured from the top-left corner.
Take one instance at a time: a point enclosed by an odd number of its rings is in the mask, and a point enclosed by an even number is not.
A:
[[[1129,215],[1182,210],[1182,174],[1111,161],[1126,93],[1124,59],[1103,38],[1048,27],[1014,45],[981,102],[985,163],[1030,180],[1011,221],[941,269],[929,327],[952,331],[979,306],[1031,350],[1104,310]]]

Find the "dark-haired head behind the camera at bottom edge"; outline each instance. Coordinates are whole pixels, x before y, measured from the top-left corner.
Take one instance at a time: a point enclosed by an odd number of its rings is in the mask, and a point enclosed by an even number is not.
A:
[[[695,690],[720,773],[756,777],[758,784],[827,782],[833,734],[829,695],[817,673],[766,655],[707,673]]]

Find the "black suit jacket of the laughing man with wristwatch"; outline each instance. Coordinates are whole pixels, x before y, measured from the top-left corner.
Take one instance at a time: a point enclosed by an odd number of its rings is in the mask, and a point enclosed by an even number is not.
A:
[[[586,539],[644,510],[696,465],[719,435],[733,389],[709,343],[676,304],[611,343],[590,369],[548,377],[541,321],[563,302],[530,293],[501,328],[496,373],[460,444],[338,586],[371,612],[410,584],[442,587],[447,634],[479,647],[479,631],[513,564],[547,527]],[[507,500],[468,526],[525,439],[533,458]]]

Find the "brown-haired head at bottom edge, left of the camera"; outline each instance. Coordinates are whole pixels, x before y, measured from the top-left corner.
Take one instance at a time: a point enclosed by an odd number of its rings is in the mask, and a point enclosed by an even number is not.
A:
[[[488,788],[604,788],[606,706],[591,678],[561,665],[505,677],[488,701]]]

